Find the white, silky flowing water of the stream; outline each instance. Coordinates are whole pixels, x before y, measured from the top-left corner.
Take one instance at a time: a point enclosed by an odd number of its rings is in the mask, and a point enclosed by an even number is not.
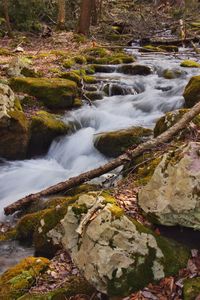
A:
[[[186,53],[174,55],[139,54],[138,63],[150,66],[152,75],[129,76],[99,73],[97,77],[106,83],[120,83],[137,93],[125,96],[104,97],[68,112],[63,119],[78,128],[70,136],[52,143],[44,157],[4,161],[0,165],[0,220],[3,207],[19,198],[40,191],[50,185],[81,172],[95,168],[107,161],[93,146],[93,136],[98,132],[117,130],[140,125],[153,128],[156,120],[167,111],[183,106],[183,90],[189,78],[198,74],[196,69],[180,67]],[[191,53],[188,57],[191,58]],[[161,74],[164,69],[184,70],[181,78],[167,80]]]

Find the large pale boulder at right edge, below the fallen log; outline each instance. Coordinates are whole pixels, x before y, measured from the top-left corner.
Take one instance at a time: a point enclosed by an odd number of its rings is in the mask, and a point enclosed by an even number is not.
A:
[[[200,143],[165,154],[138,194],[142,210],[163,225],[200,230]]]

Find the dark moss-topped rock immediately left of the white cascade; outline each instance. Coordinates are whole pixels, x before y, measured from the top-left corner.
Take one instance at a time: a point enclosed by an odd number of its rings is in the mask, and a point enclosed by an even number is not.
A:
[[[30,124],[28,155],[41,155],[48,151],[51,142],[58,136],[69,133],[71,126],[64,123],[58,116],[38,111]]]

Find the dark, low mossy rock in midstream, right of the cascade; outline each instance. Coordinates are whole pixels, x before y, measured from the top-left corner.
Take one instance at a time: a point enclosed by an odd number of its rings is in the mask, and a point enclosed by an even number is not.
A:
[[[105,156],[117,157],[130,146],[142,143],[151,135],[152,130],[143,127],[99,133],[94,136],[94,146]]]

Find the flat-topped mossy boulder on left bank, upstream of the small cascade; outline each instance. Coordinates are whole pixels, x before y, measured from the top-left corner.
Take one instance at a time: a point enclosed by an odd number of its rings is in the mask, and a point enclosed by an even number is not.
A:
[[[77,84],[63,78],[12,78],[14,91],[27,93],[41,100],[50,109],[73,107],[77,97]]]

